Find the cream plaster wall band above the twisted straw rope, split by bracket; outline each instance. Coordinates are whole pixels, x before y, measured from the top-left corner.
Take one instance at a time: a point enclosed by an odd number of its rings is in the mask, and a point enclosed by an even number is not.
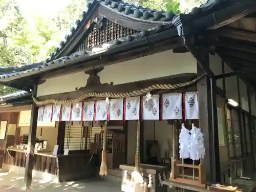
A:
[[[190,53],[172,50],[106,66],[99,73],[101,83],[122,84],[182,73],[197,73],[196,59]],[[89,75],[83,71],[47,79],[37,88],[37,96],[75,91],[84,87]]]

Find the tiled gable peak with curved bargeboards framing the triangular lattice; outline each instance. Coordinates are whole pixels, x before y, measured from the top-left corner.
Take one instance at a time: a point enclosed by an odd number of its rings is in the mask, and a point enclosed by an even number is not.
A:
[[[71,33],[65,36],[66,40],[60,42],[59,47],[55,48],[55,52],[49,55],[46,62],[69,56],[78,41],[81,38],[86,38],[93,30],[94,27],[91,26],[95,25],[96,28],[101,28],[106,20],[127,29],[143,31],[155,28],[158,24],[168,24],[174,16],[175,14],[172,12],[130,5],[122,1],[93,0],[87,3],[87,11],[82,13],[82,18],[75,22],[74,27],[71,27]],[[112,33],[118,33],[118,31]]]

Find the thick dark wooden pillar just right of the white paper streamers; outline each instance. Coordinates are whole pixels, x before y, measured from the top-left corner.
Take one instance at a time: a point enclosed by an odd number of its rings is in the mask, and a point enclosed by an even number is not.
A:
[[[202,56],[198,54],[198,57]],[[198,64],[198,75],[204,73],[202,66],[210,71],[209,53],[203,53]],[[208,74],[209,75],[209,74]],[[216,79],[213,73],[211,78],[205,75],[197,83],[199,100],[199,127],[204,134],[205,157],[202,160],[203,182],[220,181],[220,157],[219,157],[219,135],[218,135],[218,116],[217,116],[217,95]],[[212,102],[211,102],[212,101]]]

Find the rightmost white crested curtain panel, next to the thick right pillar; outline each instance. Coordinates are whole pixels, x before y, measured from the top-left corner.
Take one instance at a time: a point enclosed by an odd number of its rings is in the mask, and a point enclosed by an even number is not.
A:
[[[199,119],[198,93],[188,92],[185,96],[186,119]]]

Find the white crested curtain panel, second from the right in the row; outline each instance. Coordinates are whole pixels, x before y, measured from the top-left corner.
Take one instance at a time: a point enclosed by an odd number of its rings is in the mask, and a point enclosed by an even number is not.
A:
[[[162,95],[162,118],[182,119],[181,93],[167,93]]]

